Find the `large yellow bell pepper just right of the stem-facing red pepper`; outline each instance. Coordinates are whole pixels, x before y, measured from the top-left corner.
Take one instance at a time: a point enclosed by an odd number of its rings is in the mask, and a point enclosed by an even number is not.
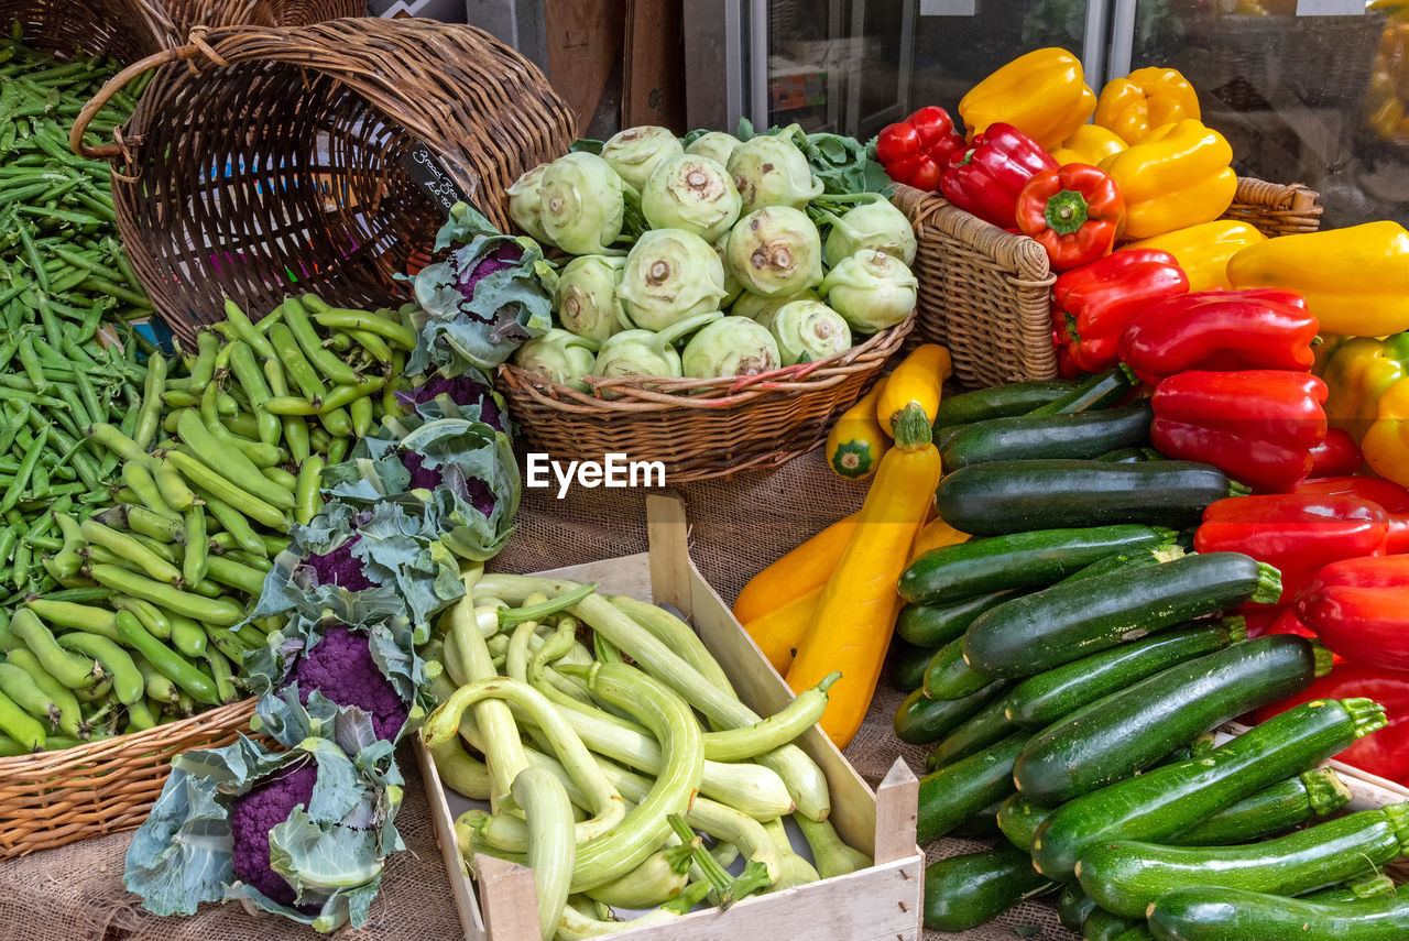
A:
[[[1126,197],[1126,238],[1153,238],[1222,216],[1237,190],[1231,162],[1222,134],[1185,118],[1107,156],[1100,169]]]

